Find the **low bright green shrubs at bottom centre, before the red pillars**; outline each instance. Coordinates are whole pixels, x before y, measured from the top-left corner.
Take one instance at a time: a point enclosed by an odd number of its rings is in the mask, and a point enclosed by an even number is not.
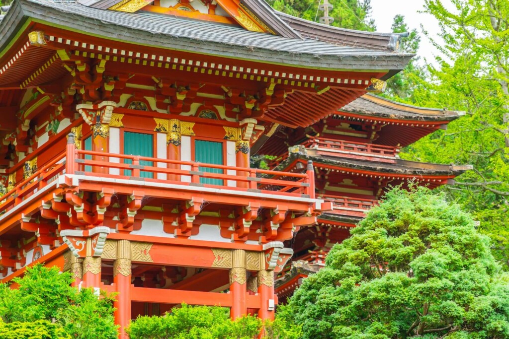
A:
[[[258,338],[262,327],[267,338],[300,336],[300,328],[285,320],[262,324],[260,319],[247,316],[232,321],[229,310],[223,307],[186,304],[161,317],[138,317],[127,333],[131,339],[250,339]]]

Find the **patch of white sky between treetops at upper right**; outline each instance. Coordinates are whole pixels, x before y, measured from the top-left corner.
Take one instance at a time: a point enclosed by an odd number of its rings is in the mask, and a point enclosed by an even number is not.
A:
[[[447,8],[450,8],[448,1],[443,1]],[[392,32],[390,26],[395,15],[402,14],[405,16],[405,22],[408,28],[417,29],[421,36],[420,48],[417,52],[421,59],[426,58],[428,63],[435,64],[434,55],[437,54],[435,48],[427,37],[422,34],[421,25],[428,31],[430,36],[436,39],[440,32],[438,21],[434,16],[426,13],[418,13],[424,9],[424,0],[371,0],[373,12],[371,17],[375,19],[377,31],[383,33]],[[424,60],[422,60],[424,61]]]

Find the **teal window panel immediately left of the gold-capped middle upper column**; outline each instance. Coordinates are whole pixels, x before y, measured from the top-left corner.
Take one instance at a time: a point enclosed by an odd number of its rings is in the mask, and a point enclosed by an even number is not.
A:
[[[124,154],[140,157],[154,157],[154,138],[152,134],[124,132]],[[130,159],[124,159],[124,164],[132,164]],[[140,165],[153,166],[152,161],[140,161]],[[124,175],[131,175],[130,170],[124,170]],[[141,171],[142,178],[153,178],[152,172]]]

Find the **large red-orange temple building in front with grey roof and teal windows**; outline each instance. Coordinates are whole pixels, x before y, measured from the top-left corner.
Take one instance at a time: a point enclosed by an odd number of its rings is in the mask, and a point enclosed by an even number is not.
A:
[[[3,11],[0,279],[44,263],[118,292],[121,338],[131,319],[182,302],[273,318],[285,242],[334,202],[316,194],[325,165],[255,169],[253,147],[383,89],[412,57],[398,34],[263,0],[14,0]]]

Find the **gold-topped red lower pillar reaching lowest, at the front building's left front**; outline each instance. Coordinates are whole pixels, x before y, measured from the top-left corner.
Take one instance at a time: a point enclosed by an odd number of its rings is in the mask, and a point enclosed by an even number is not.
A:
[[[117,242],[117,259],[113,266],[113,282],[119,293],[114,302],[115,324],[119,325],[119,339],[128,339],[125,328],[131,321],[131,242]]]

